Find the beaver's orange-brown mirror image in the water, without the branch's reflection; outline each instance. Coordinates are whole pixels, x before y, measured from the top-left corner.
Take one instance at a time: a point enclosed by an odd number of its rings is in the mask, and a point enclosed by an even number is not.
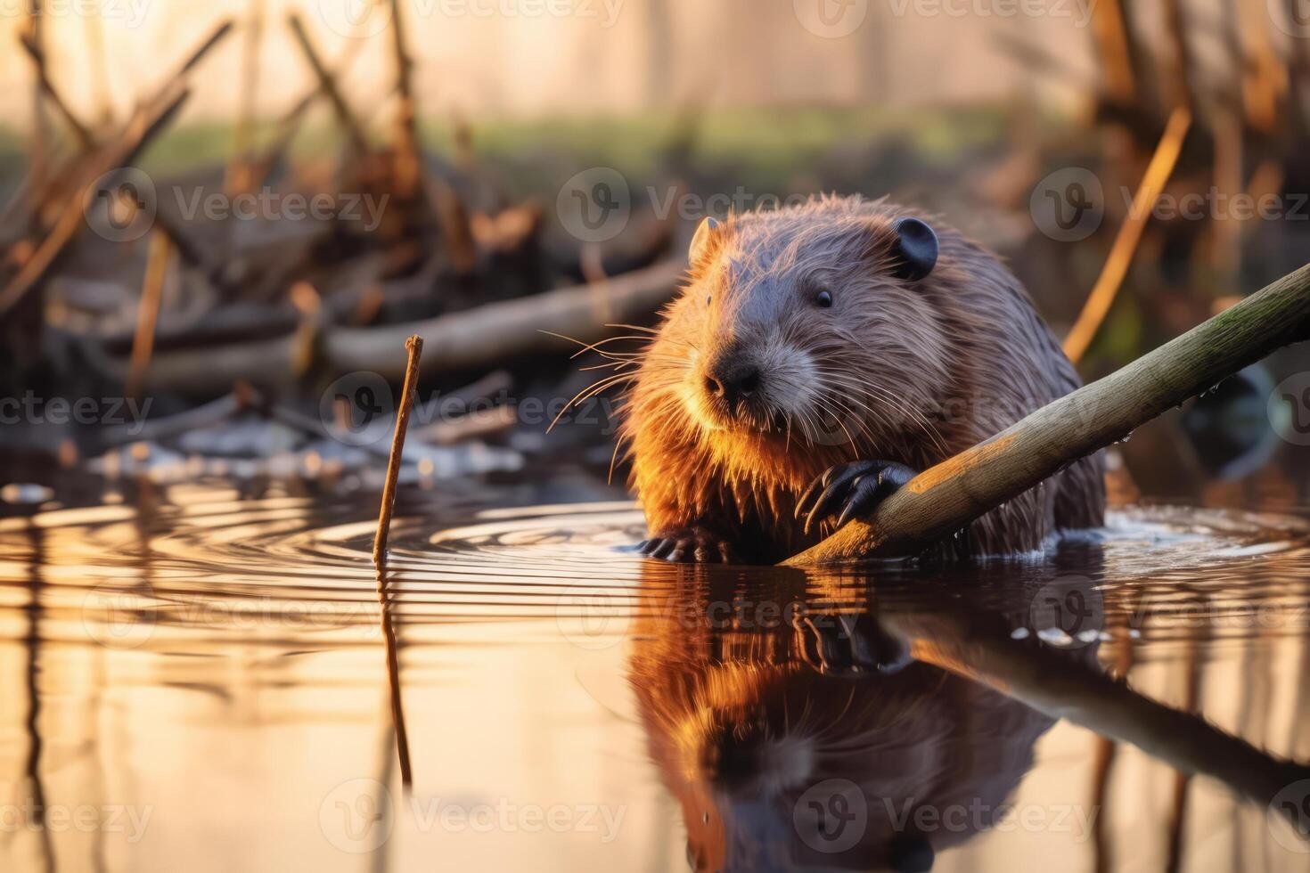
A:
[[[798,586],[796,586],[798,588]],[[927,869],[1005,814],[1052,719],[909,657],[870,603],[656,598],[630,677],[697,869]]]

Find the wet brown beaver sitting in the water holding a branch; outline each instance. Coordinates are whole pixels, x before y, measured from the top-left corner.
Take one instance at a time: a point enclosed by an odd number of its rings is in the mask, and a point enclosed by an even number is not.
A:
[[[886,199],[706,219],[689,263],[620,431],[651,558],[782,560],[1081,385],[996,255]],[[1104,501],[1090,455],[930,551],[1034,552]]]

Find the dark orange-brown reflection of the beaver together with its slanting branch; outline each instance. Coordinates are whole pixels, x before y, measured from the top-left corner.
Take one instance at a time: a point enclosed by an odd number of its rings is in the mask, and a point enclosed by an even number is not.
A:
[[[1095,636],[1043,643],[1040,572],[1009,605],[693,573],[647,586],[630,679],[696,869],[927,869],[1011,813],[1057,715],[1262,805],[1307,775],[1106,677]]]

